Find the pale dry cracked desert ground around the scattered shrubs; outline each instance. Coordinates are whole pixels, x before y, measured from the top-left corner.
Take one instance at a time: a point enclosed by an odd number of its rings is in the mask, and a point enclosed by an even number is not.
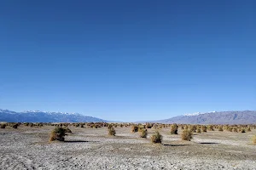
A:
[[[207,132],[182,141],[163,128],[163,144],[130,133],[131,127],[70,127],[65,142],[49,143],[54,127],[0,129],[0,169],[256,169],[256,145],[249,133]],[[179,132],[180,133],[180,132]]]

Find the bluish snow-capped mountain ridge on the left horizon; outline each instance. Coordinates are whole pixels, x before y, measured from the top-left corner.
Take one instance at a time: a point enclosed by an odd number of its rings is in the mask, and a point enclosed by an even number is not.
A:
[[[0,109],[0,122],[108,122],[93,116],[79,113],[22,111],[15,112]]]

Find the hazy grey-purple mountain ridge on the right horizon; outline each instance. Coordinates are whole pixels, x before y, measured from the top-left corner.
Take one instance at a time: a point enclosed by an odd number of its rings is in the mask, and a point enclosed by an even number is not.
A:
[[[256,124],[256,111],[212,111],[154,121],[183,124]]]

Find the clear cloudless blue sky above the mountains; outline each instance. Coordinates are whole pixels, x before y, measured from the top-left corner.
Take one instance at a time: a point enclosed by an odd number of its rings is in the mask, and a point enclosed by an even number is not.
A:
[[[2,1],[0,108],[113,121],[256,110],[255,1]]]

